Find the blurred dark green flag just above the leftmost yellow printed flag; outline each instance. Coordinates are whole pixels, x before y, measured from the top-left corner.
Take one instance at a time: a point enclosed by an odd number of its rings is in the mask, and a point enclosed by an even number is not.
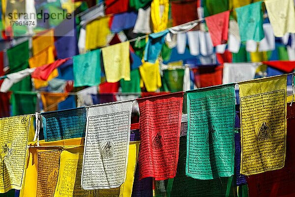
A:
[[[12,116],[35,113],[36,100],[35,92],[13,92],[10,99]]]

